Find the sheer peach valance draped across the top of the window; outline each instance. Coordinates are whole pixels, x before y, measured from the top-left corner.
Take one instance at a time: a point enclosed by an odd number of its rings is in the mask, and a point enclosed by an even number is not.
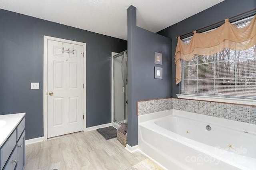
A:
[[[228,19],[215,30],[207,33],[196,33],[188,44],[178,37],[175,52],[176,84],[181,81],[181,59],[190,61],[195,54],[212,55],[222,51],[224,48],[232,50],[246,50],[256,44],[256,16],[248,26],[237,28]]]

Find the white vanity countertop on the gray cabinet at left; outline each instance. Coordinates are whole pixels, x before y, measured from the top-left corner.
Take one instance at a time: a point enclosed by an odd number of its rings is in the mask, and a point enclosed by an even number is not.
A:
[[[2,147],[24,116],[25,113],[0,115],[0,147]]]

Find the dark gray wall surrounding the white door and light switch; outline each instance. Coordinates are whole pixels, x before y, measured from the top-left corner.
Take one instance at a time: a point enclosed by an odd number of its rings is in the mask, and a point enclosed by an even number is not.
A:
[[[111,122],[111,52],[127,41],[1,9],[0,23],[0,114],[26,112],[26,139],[43,136],[44,35],[86,43],[86,125]]]

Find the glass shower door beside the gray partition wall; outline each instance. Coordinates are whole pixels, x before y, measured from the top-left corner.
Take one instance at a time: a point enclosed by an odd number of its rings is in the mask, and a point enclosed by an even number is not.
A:
[[[126,52],[114,56],[114,122],[126,122]]]

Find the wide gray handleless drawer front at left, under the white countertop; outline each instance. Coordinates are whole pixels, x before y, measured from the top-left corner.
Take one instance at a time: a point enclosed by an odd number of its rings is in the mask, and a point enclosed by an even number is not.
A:
[[[16,138],[17,133],[16,129],[13,131],[13,133],[10,135],[10,137],[6,140],[2,148],[0,149],[0,170],[3,169],[6,161],[8,160],[10,154],[12,153],[12,150],[16,146]]]

